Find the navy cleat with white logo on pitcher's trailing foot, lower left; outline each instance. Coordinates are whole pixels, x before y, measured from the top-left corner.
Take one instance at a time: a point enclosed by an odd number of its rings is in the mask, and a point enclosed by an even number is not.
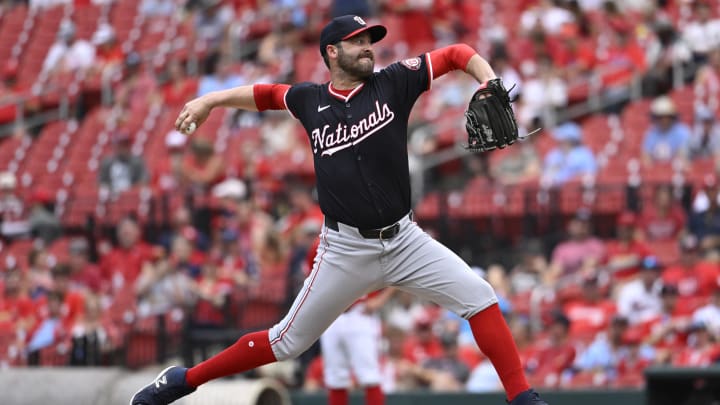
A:
[[[167,405],[196,390],[185,381],[184,367],[170,366],[161,371],[155,380],[136,392],[130,405]]]

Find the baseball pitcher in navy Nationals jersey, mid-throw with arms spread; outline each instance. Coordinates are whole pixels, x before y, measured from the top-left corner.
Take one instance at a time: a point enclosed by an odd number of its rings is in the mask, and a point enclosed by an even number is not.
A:
[[[199,385],[300,355],[359,297],[385,287],[435,301],[467,319],[511,405],[547,405],[528,385],[490,285],[425,233],[410,211],[408,116],[434,80],[462,70],[480,83],[468,107],[468,148],[502,148],[517,126],[502,82],[467,45],[452,45],[374,72],[374,44],[387,29],[358,16],[330,21],[320,35],[328,83],[257,84],[209,93],[180,112],[192,132],[215,107],[284,109],[307,131],[325,224],[310,275],[288,314],[191,368],[169,367],[132,404],[168,404]],[[189,131],[188,131],[189,129]]]

